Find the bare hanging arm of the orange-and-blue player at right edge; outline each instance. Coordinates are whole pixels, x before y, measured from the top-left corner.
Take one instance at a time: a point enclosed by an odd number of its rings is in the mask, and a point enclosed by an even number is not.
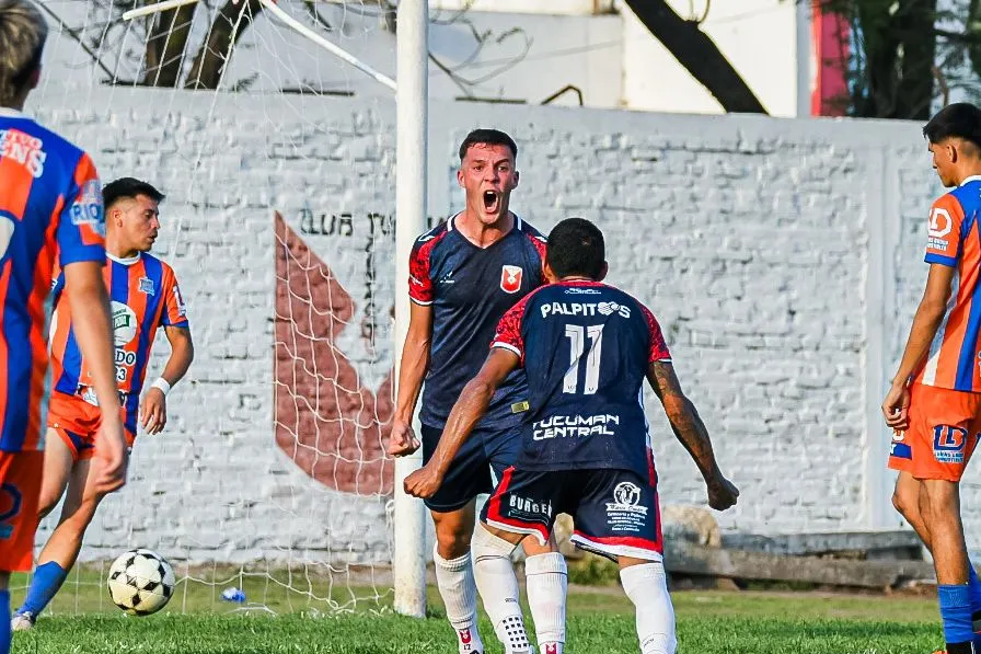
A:
[[[923,299],[916,308],[913,317],[913,325],[910,328],[910,337],[902,353],[899,370],[892,378],[892,388],[882,402],[882,415],[886,416],[886,425],[902,431],[910,426],[909,405],[910,395],[907,382],[930,352],[933,342],[947,312],[947,301],[950,299],[950,283],[954,279],[956,268],[934,263],[930,265],[930,274],[926,277],[926,289]]]

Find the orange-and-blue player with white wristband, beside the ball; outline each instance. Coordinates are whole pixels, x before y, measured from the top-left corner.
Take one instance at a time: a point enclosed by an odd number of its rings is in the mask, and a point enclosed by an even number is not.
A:
[[[163,195],[146,182],[124,177],[106,184],[103,198],[108,255],[104,284],[112,299],[115,379],[126,437],[132,446],[137,420],[147,434],[163,429],[166,393],[187,372],[194,346],[174,272],[149,253],[160,229],[158,205]],[[97,451],[101,402],[95,401],[92,392],[91,362],[79,352],[72,290],[65,289],[64,283],[65,277],[58,277],[54,290],[54,375],[41,515],[47,515],[62,494],[65,503],[58,526],[38,557],[24,605],[13,618],[14,630],[33,627],[61,587],[81,550],[85,529],[105,496],[90,489],[90,461]],[[140,403],[150,347],[159,326],[170,341],[171,356],[163,375]]]

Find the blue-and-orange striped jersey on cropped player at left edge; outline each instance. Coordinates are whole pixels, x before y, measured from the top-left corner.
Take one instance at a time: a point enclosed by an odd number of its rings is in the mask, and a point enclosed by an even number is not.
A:
[[[58,261],[56,261],[56,257]],[[102,187],[85,152],[0,108],[0,450],[39,447],[56,263],[105,261]]]

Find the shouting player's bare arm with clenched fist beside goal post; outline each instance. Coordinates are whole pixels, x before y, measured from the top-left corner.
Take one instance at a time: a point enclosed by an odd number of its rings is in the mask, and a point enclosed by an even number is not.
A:
[[[432,343],[432,307],[409,302],[408,332],[399,365],[399,397],[389,436],[389,456],[411,455],[419,448],[412,431],[412,416],[429,369],[429,346]]]

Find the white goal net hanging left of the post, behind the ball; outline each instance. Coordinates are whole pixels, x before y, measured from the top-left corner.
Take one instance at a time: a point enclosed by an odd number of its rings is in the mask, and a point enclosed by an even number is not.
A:
[[[390,610],[394,5],[148,4],[43,8],[27,110],[104,182],[166,194],[154,253],[196,351],[51,611],[112,610],[108,562],[132,548],[173,564],[168,610]],[[169,353],[161,334],[147,383]]]

